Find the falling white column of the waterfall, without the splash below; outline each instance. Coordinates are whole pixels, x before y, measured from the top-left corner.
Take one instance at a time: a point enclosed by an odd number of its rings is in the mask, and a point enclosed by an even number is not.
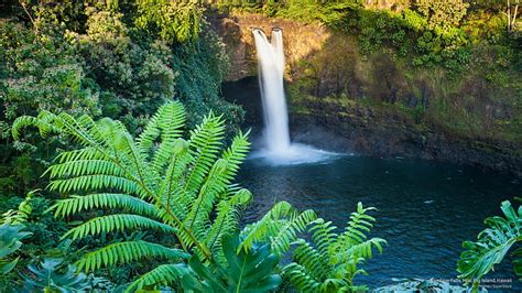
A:
[[[271,42],[261,30],[254,30],[259,61],[259,84],[264,113],[264,140],[269,151],[286,153],[290,150],[289,113],[284,97],[283,32],[272,30]]]

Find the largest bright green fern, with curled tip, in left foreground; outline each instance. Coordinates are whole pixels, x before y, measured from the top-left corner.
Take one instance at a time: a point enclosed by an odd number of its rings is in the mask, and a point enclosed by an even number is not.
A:
[[[121,122],[109,118],[94,121],[48,111],[18,118],[13,137],[20,139],[29,126],[42,135],[67,135],[81,146],[61,153],[45,172],[51,178],[47,188],[68,196],[51,208],[55,217],[105,211],[72,228],[63,239],[154,229],[175,236],[185,252],[206,263],[225,261],[220,239],[237,229],[239,211],[251,198],[233,184],[249,151],[248,132],[221,151],[225,122],[210,113],[185,140],[180,102],[162,106],[135,140]],[[181,256],[162,243],[111,243],[84,254],[77,267],[89,271],[138,259],[182,261]],[[145,275],[152,279],[138,279],[133,286],[151,285],[151,280],[168,283],[172,276],[166,269]]]

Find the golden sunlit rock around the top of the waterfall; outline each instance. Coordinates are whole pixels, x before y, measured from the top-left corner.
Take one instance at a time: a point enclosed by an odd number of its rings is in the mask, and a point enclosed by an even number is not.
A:
[[[208,20],[213,30],[222,37],[227,54],[230,56],[231,70],[226,78],[227,82],[258,75],[252,29],[261,29],[267,34],[274,28],[283,30],[287,69],[319,51],[325,41],[331,36],[331,32],[320,24],[303,24],[252,13],[214,13]],[[292,76],[287,77],[291,79]]]

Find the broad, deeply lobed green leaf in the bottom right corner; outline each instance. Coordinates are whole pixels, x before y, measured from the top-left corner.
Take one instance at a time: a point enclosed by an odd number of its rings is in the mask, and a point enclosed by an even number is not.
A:
[[[488,228],[478,235],[476,242],[465,241],[466,249],[458,261],[458,276],[467,282],[474,282],[478,287],[480,279],[502,262],[510,249],[522,241],[522,207],[515,210],[509,200],[502,202],[500,209],[503,217],[487,218]],[[522,278],[522,249],[513,252],[514,272]]]

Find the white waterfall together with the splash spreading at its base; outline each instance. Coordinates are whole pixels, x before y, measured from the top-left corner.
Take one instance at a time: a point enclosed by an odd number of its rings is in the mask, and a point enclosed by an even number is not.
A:
[[[262,30],[252,31],[258,54],[259,85],[263,106],[263,146],[250,155],[272,165],[317,163],[334,160],[340,154],[291,143],[289,113],[284,94],[283,32],[272,30],[271,40]]]

